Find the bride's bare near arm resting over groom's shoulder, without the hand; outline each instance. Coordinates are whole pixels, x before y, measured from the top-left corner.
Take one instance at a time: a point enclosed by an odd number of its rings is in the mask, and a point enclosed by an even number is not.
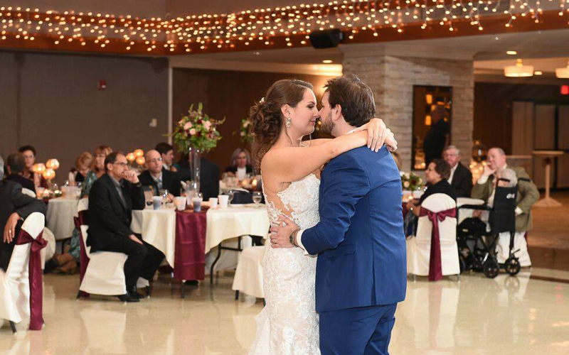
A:
[[[315,146],[274,148],[262,158],[261,170],[270,173],[279,183],[297,181],[314,173],[331,158],[365,146],[367,138],[366,131],[359,131]]]

